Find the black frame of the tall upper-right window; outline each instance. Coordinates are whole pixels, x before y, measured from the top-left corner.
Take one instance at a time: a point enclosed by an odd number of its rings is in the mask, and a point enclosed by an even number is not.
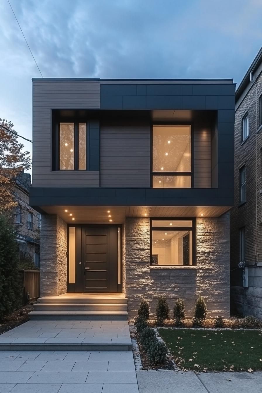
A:
[[[190,172],[154,172],[153,171],[153,127],[161,126],[161,125],[190,127],[191,130],[191,171]],[[194,127],[191,121],[179,121],[179,122],[151,121],[150,123],[150,187],[151,188],[153,188],[153,176],[191,176],[191,188],[194,187]],[[164,189],[175,189],[175,188],[165,187]]]

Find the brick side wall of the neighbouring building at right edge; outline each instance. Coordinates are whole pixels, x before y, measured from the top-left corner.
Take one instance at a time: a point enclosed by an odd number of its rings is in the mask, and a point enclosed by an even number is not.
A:
[[[262,73],[236,110],[235,121],[235,207],[230,212],[231,312],[243,313],[242,270],[238,269],[239,229],[245,228],[245,262],[248,288],[245,314],[262,319],[262,126],[259,97]],[[249,137],[242,143],[242,119],[248,114]],[[246,166],[246,202],[240,204],[240,168]],[[257,174],[257,187],[256,187]],[[257,225],[256,225],[257,212]],[[257,252],[256,252],[257,228]],[[260,266],[254,266],[256,253]]]

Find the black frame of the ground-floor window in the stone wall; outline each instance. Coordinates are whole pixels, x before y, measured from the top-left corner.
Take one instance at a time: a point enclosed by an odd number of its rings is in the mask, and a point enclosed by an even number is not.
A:
[[[183,227],[170,227],[168,226],[152,226],[152,221],[158,220],[158,221],[192,221],[192,226],[183,226]],[[196,217],[150,217],[150,266],[163,266],[167,268],[192,268],[196,266]],[[153,229],[154,228],[154,229]],[[152,231],[192,231],[192,265],[152,265]]]

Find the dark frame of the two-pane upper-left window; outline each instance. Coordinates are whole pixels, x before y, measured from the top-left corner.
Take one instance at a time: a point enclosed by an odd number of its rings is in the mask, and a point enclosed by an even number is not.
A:
[[[73,123],[74,125],[74,169],[60,169],[60,123]],[[86,169],[79,169],[79,124],[86,125]],[[52,171],[85,172],[89,170],[88,160],[88,129],[89,123],[82,119],[59,118],[52,127]]]

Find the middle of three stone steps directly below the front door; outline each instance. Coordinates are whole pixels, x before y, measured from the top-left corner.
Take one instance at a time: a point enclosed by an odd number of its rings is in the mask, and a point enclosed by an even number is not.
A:
[[[38,303],[35,311],[126,311],[126,303]]]

